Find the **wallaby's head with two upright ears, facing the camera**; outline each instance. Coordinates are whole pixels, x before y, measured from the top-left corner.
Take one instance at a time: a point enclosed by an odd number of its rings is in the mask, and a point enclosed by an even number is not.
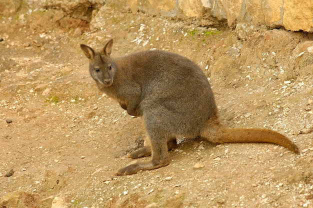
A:
[[[91,47],[80,44],[85,56],[89,59],[89,72],[92,78],[103,86],[111,86],[116,68],[110,58],[113,39],[107,41],[100,52],[95,52]]]

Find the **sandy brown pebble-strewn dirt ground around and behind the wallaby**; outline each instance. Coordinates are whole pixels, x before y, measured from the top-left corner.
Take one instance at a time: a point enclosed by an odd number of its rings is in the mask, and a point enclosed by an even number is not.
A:
[[[312,34],[261,28],[242,40],[114,5],[92,29],[56,14],[1,17],[0,207],[313,207]],[[88,74],[79,44],[100,48],[109,38],[112,56],[157,48],[192,59],[224,124],[274,129],[300,153],[179,138],[168,166],[116,176],[145,132]]]

